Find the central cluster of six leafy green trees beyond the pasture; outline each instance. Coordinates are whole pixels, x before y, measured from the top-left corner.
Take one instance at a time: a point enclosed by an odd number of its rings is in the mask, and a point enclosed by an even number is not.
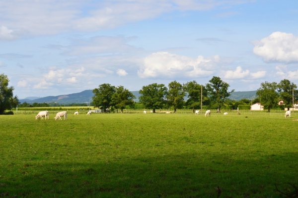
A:
[[[196,81],[180,84],[177,81],[170,82],[166,87],[164,84],[153,83],[143,86],[139,91],[139,103],[146,109],[173,108],[174,112],[179,108],[189,108],[193,112],[202,105],[209,108],[220,109],[226,104],[227,98],[234,90],[228,91],[229,85],[219,77],[213,77],[206,86],[199,85]],[[203,89],[204,88],[204,89]],[[202,93],[201,93],[202,92]],[[123,112],[128,105],[133,107],[136,97],[122,86],[115,87],[110,84],[99,85],[93,90],[93,103],[95,107],[107,109],[115,107]],[[184,97],[187,95],[187,100]]]

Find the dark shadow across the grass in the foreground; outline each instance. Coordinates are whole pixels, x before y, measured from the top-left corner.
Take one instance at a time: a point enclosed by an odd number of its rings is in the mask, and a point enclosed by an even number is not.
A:
[[[2,166],[0,197],[43,198],[278,198],[298,178],[296,153],[259,160],[193,154],[114,159],[98,163],[40,163],[34,160],[6,172]]]

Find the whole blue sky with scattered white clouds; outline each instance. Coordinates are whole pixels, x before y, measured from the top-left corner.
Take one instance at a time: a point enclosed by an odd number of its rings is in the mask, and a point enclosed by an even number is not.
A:
[[[14,95],[219,76],[235,91],[298,84],[297,0],[0,0],[0,73]]]

